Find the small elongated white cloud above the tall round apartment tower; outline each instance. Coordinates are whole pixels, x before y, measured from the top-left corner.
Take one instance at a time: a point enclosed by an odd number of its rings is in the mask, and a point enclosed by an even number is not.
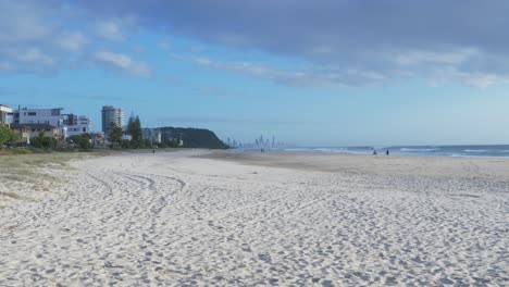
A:
[[[94,54],[96,63],[110,70],[137,77],[149,77],[150,66],[142,62],[135,62],[128,55],[99,51]]]

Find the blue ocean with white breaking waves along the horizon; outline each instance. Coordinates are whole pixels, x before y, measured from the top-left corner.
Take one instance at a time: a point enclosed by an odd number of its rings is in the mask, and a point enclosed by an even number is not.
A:
[[[319,152],[319,153],[346,153],[346,154],[390,154],[422,155],[422,157],[463,157],[463,158],[509,158],[509,145],[489,146],[393,146],[393,147],[293,147],[269,148],[266,151],[288,152]]]

